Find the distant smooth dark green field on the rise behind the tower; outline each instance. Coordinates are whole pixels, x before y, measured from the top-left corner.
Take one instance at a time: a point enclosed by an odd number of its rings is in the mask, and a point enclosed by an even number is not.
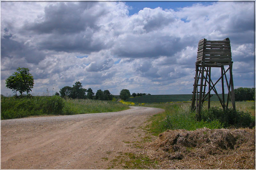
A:
[[[227,99],[228,94],[225,94]],[[134,103],[166,103],[173,101],[191,101],[192,94],[168,94],[168,95],[145,95],[140,97],[130,97],[126,101]],[[207,100],[208,101],[208,100]],[[211,101],[219,101],[216,94],[213,94]]]

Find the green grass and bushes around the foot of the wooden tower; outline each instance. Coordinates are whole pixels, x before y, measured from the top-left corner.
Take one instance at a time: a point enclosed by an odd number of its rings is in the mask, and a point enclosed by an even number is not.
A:
[[[232,109],[223,113],[219,102],[211,102],[211,109],[207,104],[203,106],[203,120],[195,119],[195,112],[190,112],[190,102],[172,102],[164,104],[145,104],[145,107],[163,108],[165,111],[151,116],[146,129],[153,135],[158,136],[167,129],[196,130],[198,128],[221,129],[229,127],[249,127],[254,122],[254,102],[236,102],[236,113]],[[232,124],[233,123],[233,124]],[[254,126],[251,124],[251,126]]]

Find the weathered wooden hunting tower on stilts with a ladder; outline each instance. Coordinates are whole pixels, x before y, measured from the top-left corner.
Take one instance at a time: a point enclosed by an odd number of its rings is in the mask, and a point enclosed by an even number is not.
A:
[[[235,92],[232,76],[232,58],[229,38],[222,41],[207,41],[206,39],[198,42],[197,58],[196,58],[196,76],[194,83],[194,91],[192,97],[191,109],[196,110],[197,119],[201,120],[201,107],[203,102],[208,100],[208,108],[210,108],[211,91],[213,91],[220,100],[223,109],[228,108],[228,100],[231,100],[233,109],[235,105]],[[226,70],[224,66],[228,67]],[[211,68],[220,68],[220,78],[213,83],[211,79]],[[227,78],[229,72],[229,81]],[[224,97],[224,78],[228,87],[228,98],[225,103]],[[219,96],[215,85],[221,80],[222,96]],[[208,92],[206,86],[208,85]],[[198,90],[199,88],[199,90]],[[199,95],[199,96],[198,96]]]

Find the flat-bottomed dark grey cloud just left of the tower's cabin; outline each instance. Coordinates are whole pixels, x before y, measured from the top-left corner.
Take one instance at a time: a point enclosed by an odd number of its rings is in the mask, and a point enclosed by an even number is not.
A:
[[[144,58],[173,55],[184,45],[180,37],[156,35],[127,35],[116,44],[114,54],[120,57]]]

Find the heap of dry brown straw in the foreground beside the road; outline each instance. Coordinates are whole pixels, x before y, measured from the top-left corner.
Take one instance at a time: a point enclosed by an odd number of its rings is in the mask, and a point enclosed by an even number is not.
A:
[[[143,151],[157,160],[148,168],[168,169],[254,169],[254,129],[167,130]]]

